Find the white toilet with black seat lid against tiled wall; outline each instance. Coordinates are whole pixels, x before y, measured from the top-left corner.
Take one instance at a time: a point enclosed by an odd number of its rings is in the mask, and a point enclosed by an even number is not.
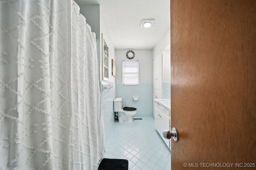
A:
[[[122,98],[114,99],[114,111],[118,112],[119,123],[132,123],[132,116],[136,114],[136,110],[134,107],[122,108]]]

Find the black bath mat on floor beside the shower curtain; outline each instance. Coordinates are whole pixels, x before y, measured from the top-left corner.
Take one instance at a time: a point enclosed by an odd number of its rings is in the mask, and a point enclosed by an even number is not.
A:
[[[128,160],[103,158],[98,170],[128,170]]]

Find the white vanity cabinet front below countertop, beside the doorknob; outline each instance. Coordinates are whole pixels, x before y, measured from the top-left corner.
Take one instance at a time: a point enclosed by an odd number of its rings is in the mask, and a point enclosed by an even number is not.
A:
[[[170,130],[170,111],[162,107],[158,103],[154,103],[154,114],[155,114],[155,128],[166,143],[167,147],[170,148],[169,139],[163,137],[164,130]]]

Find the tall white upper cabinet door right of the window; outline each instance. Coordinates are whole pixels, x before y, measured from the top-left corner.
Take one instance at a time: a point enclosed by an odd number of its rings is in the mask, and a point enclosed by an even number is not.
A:
[[[162,54],[153,60],[153,89],[162,90]]]

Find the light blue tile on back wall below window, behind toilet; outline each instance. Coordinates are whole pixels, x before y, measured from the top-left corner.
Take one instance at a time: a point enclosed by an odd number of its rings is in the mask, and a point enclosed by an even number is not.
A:
[[[134,101],[133,96],[138,96],[138,101]],[[122,85],[122,83],[116,83],[116,97],[122,98],[122,107],[137,108],[134,117],[152,117],[153,83],[126,86]]]

